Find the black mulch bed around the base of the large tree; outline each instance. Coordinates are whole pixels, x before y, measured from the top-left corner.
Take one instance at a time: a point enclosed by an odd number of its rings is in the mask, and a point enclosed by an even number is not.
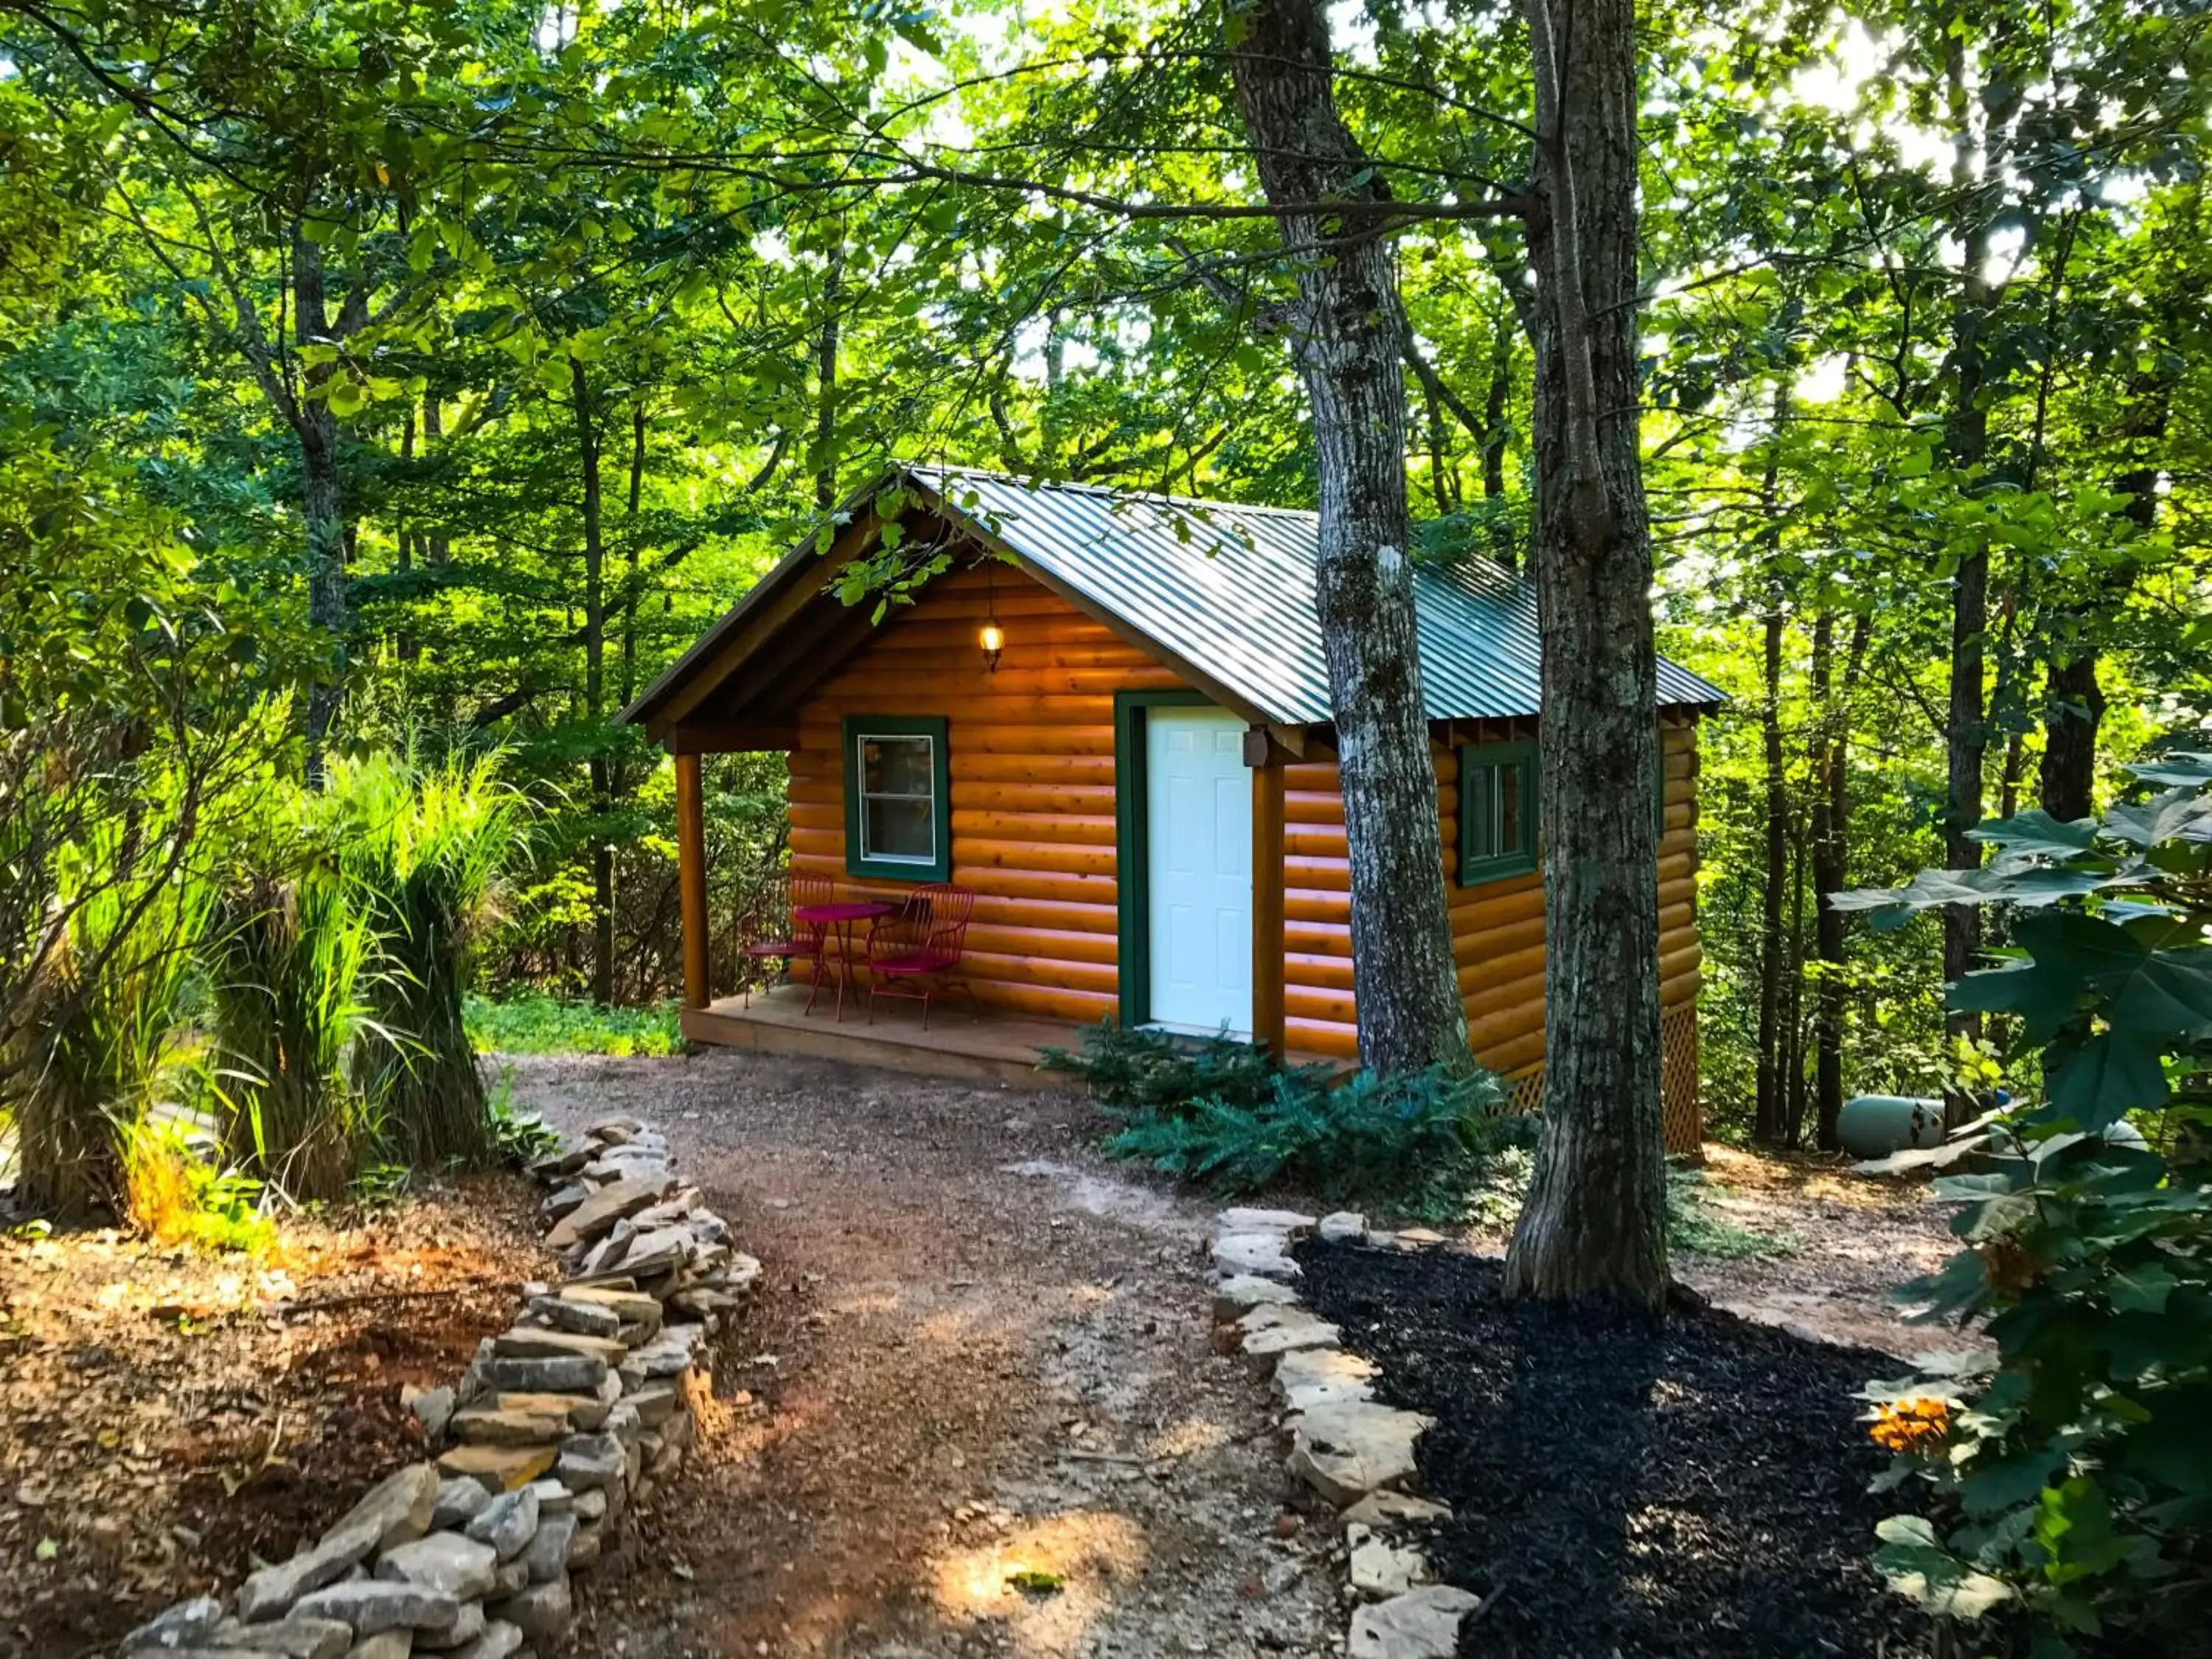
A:
[[[1438,1420],[1440,1575],[1493,1595],[1482,1659],[1916,1659],[1929,1621],[1867,1555],[1907,1493],[1854,1391],[1905,1367],[1719,1310],[1659,1327],[1498,1301],[1498,1263],[1310,1243],[1303,1294],[1383,1367],[1376,1398]]]

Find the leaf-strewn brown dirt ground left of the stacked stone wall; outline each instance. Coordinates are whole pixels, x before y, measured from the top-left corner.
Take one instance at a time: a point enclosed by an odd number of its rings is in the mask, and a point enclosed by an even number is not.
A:
[[[520,1179],[290,1221],[265,1256],[0,1234],[0,1657],[75,1659],[230,1586],[422,1449],[549,1272]]]

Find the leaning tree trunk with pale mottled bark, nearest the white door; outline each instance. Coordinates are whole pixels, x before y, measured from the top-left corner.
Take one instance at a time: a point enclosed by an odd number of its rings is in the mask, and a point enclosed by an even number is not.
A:
[[[1336,113],[1323,0],[1254,0],[1239,20],[1230,64],[1267,199],[1385,201]],[[1467,1013],[1413,637],[1398,272],[1383,237],[1329,239],[1365,223],[1354,215],[1325,232],[1312,212],[1281,215],[1321,480],[1314,588],[1343,772],[1360,1064],[1391,1073],[1462,1064]]]

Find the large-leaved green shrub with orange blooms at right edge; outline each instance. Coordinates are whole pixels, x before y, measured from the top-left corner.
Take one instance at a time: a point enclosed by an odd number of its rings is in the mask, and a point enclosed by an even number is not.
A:
[[[1891,1478],[1940,1495],[1876,1564],[1936,1613],[2024,1606],[2039,1655],[2212,1652],[2212,757],[2135,770],[2174,787],[2101,823],[2026,812],[1975,832],[1980,872],[1845,896],[1878,925],[2013,907],[2008,960],[1951,1006],[2011,1022],[2042,1097],[1878,1166],[1982,1164],[1936,1183],[1966,1250],[1902,1294],[1986,1321],[1997,1358],[1869,1400]]]

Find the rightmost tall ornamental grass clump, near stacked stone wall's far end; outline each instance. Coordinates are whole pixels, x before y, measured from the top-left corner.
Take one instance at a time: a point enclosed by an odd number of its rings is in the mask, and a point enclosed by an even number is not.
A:
[[[330,807],[385,953],[367,998],[394,1033],[363,1048],[361,1088],[405,1164],[482,1166],[495,1148],[465,1022],[469,947],[522,845],[526,801],[500,783],[498,754],[376,754],[332,765]]]

